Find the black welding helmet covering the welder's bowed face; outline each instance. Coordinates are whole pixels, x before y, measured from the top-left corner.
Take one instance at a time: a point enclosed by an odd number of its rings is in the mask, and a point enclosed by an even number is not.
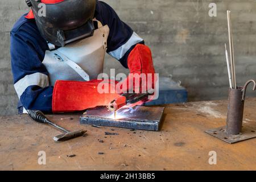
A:
[[[44,3],[45,2],[45,3]],[[55,46],[93,36],[96,0],[26,0],[40,34]]]

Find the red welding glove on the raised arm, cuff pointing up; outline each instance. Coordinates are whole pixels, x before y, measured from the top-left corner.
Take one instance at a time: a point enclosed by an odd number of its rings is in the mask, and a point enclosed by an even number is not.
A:
[[[155,88],[155,69],[150,48],[143,44],[137,44],[128,56],[127,65],[130,74],[120,86],[122,92],[131,89],[135,93],[145,93],[148,88]],[[136,78],[137,76],[139,78]]]

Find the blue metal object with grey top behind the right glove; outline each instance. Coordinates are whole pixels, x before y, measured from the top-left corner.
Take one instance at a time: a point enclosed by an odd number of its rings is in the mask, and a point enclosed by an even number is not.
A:
[[[187,102],[187,100],[188,92],[183,86],[180,86],[171,77],[159,77],[159,98],[145,105],[174,104]]]

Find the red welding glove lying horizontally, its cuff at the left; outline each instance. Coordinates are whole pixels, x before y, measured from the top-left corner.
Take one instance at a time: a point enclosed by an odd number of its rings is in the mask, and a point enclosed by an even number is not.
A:
[[[57,80],[52,94],[53,113],[81,111],[96,106],[108,106],[116,98],[121,99],[115,92],[115,81],[62,81]],[[98,91],[98,86],[105,93]],[[126,99],[123,98],[123,102]]]

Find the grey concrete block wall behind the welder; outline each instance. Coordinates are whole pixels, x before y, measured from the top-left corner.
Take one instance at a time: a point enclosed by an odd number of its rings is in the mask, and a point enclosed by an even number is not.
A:
[[[228,77],[224,42],[226,10],[232,10],[237,82],[256,79],[256,2],[253,0],[105,0],[152,50],[156,72],[172,75],[188,89],[189,101],[226,99]],[[217,17],[208,15],[216,3]],[[28,10],[23,0],[0,1],[0,115],[16,113],[18,97],[10,68],[10,29]],[[106,55],[110,68],[128,73]],[[256,92],[248,92],[255,97]]]

